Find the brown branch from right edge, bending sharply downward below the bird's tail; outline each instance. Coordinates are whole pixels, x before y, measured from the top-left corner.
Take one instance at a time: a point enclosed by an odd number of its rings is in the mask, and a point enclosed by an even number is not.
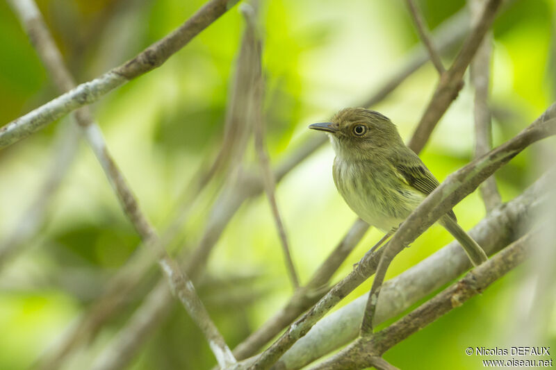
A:
[[[384,281],[386,270],[389,264],[423,231],[429,228],[434,221],[448,212],[465,196],[473,192],[482,181],[491,176],[494,171],[509,162],[518,153],[523,151],[530,144],[537,142],[545,137],[556,134],[556,103],[536,119],[530,126],[518,133],[512,140],[505,142],[486,153],[480,158],[468,163],[455,173],[446,178],[444,183],[437,187],[418,207],[411,212],[405,219],[400,228],[394,233],[388,245],[384,247],[384,253],[377,267],[377,273],[373,280],[373,286],[369,292],[369,299],[363,323],[361,324],[361,334],[370,335],[373,331],[373,317],[380,287]]]

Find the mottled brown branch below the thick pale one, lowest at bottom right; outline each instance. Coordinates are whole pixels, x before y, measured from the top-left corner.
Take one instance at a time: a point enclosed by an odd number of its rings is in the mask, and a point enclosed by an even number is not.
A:
[[[536,239],[537,234],[534,231],[521,237],[494,255],[489,261],[468,272],[457,283],[450,285],[388,328],[369,337],[359,337],[347,348],[311,370],[354,370],[373,366],[375,356],[382,355],[409,335],[463,305],[509,271],[518,267],[528,257]]]

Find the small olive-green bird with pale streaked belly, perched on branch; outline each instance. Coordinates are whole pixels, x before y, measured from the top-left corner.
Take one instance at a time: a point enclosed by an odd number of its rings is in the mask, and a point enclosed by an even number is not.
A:
[[[405,146],[392,121],[379,112],[345,108],[331,122],[309,128],[325,131],[330,137],[336,152],[334,183],[347,205],[387,233],[386,237],[440,185]],[[438,222],[457,239],[475,266],[487,260],[479,244],[457,224],[452,210]]]

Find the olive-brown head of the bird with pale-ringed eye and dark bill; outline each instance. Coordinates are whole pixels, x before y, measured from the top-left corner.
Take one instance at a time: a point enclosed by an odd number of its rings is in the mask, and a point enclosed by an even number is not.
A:
[[[398,129],[392,121],[374,110],[345,108],[329,122],[312,124],[313,130],[325,131],[338,157],[349,160],[388,155],[400,144]]]

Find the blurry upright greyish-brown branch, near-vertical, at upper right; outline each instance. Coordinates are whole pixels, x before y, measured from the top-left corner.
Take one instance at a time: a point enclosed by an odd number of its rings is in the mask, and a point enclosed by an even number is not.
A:
[[[483,0],[470,0],[472,21],[477,22]],[[488,153],[492,148],[491,112],[489,109],[489,80],[492,49],[492,32],[484,37],[479,49],[471,62],[471,83],[475,87],[475,157]],[[502,202],[496,179],[487,178],[479,187],[486,212],[490,212]]]

